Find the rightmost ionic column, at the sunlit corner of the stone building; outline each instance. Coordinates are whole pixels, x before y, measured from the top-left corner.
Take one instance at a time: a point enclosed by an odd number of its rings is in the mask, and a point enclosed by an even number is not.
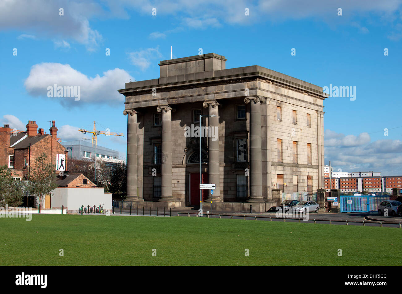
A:
[[[250,198],[247,202],[264,202],[261,167],[261,107],[263,98],[255,96],[244,99],[250,103]]]

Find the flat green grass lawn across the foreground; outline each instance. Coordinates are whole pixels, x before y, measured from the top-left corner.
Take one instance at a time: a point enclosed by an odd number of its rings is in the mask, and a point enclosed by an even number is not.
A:
[[[1,266],[402,265],[399,228],[104,215],[0,223]]]

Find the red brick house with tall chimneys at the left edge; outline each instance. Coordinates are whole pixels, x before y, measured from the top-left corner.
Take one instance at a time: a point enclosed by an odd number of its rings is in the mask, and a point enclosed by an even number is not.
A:
[[[0,128],[0,165],[8,166],[15,178],[29,179],[29,172],[41,154],[45,153],[47,162],[55,167],[57,154],[64,154],[64,169],[68,170],[69,150],[60,144],[54,120],[52,124],[50,134],[46,134],[43,129],[37,130],[38,126],[32,120],[28,121],[26,132],[13,132],[9,125]]]

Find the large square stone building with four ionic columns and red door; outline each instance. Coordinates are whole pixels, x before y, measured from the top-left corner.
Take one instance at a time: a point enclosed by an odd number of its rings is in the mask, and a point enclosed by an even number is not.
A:
[[[125,84],[127,200],[266,211],[280,191],[324,186],[322,87],[215,53],[161,61],[160,77]],[[214,116],[214,117],[212,117]],[[198,131],[197,131],[198,130]],[[203,204],[203,205],[204,205]]]

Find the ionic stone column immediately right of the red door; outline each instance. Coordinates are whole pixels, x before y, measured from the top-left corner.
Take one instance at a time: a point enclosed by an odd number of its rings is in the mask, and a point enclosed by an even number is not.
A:
[[[217,101],[205,101],[204,107],[208,107],[208,115],[215,117],[208,118],[208,182],[215,184],[216,189],[213,190],[213,195],[209,194],[205,202],[223,202],[223,195],[220,195],[220,171],[219,171],[219,103]],[[202,132],[201,132],[202,134]],[[201,140],[201,138],[200,138]]]

